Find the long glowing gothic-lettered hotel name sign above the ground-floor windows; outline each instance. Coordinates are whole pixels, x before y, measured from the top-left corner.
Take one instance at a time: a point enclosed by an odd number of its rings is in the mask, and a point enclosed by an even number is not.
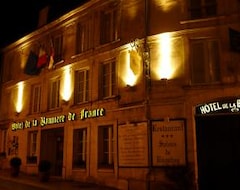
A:
[[[12,131],[27,129],[31,127],[65,123],[66,121],[85,120],[89,118],[103,117],[105,115],[104,108],[97,108],[93,110],[82,109],[79,114],[69,112],[68,115],[57,115],[53,117],[40,117],[40,119],[33,119],[31,121],[25,120],[22,122],[14,122],[11,124]]]

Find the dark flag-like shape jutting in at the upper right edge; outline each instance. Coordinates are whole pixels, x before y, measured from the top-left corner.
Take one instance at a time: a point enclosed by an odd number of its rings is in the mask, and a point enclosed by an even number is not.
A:
[[[229,28],[230,50],[240,53],[240,32]]]

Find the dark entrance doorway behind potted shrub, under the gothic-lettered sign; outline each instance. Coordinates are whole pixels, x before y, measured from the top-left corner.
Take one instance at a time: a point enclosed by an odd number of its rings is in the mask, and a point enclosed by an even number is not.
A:
[[[63,166],[63,128],[41,131],[41,160],[52,163],[51,175],[62,176]]]

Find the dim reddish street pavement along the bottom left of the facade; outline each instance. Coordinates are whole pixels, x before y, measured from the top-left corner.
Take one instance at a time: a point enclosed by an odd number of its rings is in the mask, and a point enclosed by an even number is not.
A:
[[[40,182],[38,176],[20,173],[11,177],[10,170],[0,169],[0,190],[117,190],[97,184],[68,181],[50,177],[48,182]]]

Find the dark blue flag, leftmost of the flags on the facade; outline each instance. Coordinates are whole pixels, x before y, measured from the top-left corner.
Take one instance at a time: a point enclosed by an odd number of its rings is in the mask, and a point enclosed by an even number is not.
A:
[[[30,51],[24,68],[24,73],[27,75],[38,75],[40,69],[37,68],[38,55]]]

